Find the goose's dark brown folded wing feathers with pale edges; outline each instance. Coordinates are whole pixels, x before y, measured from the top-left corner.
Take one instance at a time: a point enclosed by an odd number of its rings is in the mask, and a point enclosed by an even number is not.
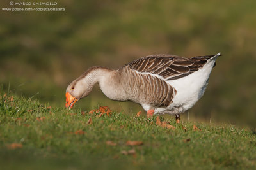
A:
[[[213,56],[185,58],[176,55],[149,55],[134,60],[125,66],[129,66],[130,69],[140,73],[156,74],[163,77],[164,80],[175,80],[198,71]]]

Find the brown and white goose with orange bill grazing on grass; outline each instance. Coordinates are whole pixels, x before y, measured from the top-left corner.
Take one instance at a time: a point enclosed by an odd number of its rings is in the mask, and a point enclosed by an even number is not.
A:
[[[72,81],[66,90],[66,108],[90,94],[98,83],[102,92],[114,101],[140,104],[147,117],[154,114],[184,113],[203,96],[212,68],[221,53],[197,57],[149,55],[120,69],[90,67]]]

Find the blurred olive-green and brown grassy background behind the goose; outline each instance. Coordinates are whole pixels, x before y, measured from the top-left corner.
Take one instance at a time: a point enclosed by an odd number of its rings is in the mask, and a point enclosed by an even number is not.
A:
[[[8,1],[0,6],[12,8]],[[0,84],[10,84],[20,96],[37,94],[33,99],[56,107],[67,85],[91,66],[117,69],[157,53],[193,57],[221,52],[203,99],[190,113],[205,121],[255,125],[254,6],[253,0],[62,0],[56,6],[65,8],[61,13],[1,11]],[[103,96],[95,92],[79,107],[108,103],[118,110]]]

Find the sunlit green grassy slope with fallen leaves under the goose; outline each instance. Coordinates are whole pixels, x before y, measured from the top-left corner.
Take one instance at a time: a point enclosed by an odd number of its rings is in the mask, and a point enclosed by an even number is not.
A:
[[[196,169],[256,167],[255,134],[232,125],[216,126],[186,122],[175,130],[156,125],[156,117],[111,117],[81,110],[47,108],[47,104],[7,94],[0,96],[0,164],[4,168],[140,169],[191,167]],[[75,113],[75,114],[67,114]],[[45,117],[44,120],[38,118]],[[87,124],[92,118],[92,124]],[[163,118],[161,118],[163,120]],[[166,119],[166,118],[165,118]],[[201,131],[193,131],[195,124]],[[188,130],[184,132],[183,127]],[[84,134],[75,134],[82,130]],[[191,141],[185,142],[186,139]],[[126,146],[128,140],[143,141]],[[106,145],[113,141],[117,145]],[[22,148],[10,149],[11,143]],[[122,155],[123,150],[136,155]]]

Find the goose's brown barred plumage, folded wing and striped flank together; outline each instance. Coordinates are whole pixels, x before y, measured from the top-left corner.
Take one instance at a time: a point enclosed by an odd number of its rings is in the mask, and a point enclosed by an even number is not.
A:
[[[152,107],[168,106],[177,92],[166,81],[198,71],[213,56],[184,58],[175,55],[149,55],[118,69],[116,80],[119,80],[118,84],[125,89],[130,101]]]

